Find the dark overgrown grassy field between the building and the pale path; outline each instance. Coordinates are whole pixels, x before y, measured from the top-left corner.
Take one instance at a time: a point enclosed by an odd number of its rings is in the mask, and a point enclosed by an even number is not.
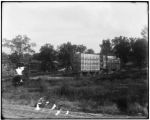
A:
[[[61,78],[40,76],[24,86],[2,81],[2,98],[11,104],[34,106],[45,97],[64,110],[112,115],[148,116],[147,70],[125,70],[96,77]]]

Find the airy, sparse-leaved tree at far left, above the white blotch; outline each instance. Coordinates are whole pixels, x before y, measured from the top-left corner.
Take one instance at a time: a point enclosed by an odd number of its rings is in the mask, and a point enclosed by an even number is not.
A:
[[[12,40],[3,39],[2,46],[10,48],[12,52],[10,59],[15,65],[17,65],[19,62],[23,62],[24,55],[26,53],[34,53],[32,47],[35,47],[36,44],[30,43],[30,38],[28,38],[26,35],[18,35]]]

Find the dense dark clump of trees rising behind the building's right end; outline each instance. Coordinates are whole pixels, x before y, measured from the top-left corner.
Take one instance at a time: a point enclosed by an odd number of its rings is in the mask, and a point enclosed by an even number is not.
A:
[[[148,40],[145,38],[127,38],[124,36],[115,37],[112,40],[103,40],[101,54],[115,55],[120,58],[121,65],[132,62],[142,67],[148,62]]]

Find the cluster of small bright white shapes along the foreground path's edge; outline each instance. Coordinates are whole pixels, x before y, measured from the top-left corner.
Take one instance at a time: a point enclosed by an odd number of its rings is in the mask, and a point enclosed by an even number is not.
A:
[[[40,106],[42,106],[43,104],[44,104],[44,106],[47,106],[50,102],[49,101],[46,101],[46,102],[44,102],[45,100],[44,100],[44,98],[40,98],[39,99],[39,101],[38,101],[38,103],[36,104],[36,107],[35,107],[35,110],[36,111],[40,111],[41,110],[41,107]],[[52,111],[52,110],[56,110],[56,104],[53,104],[53,106],[50,108],[50,112]],[[59,108],[57,111],[56,111],[56,113],[55,113],[55,116],[58,116],[60,113],[61,113],[61,111],[62,111],[62,109],[61,108]],[[65,113],[65,115],[68,115],[69,114],[69,110],[67,110],[66,111],[66,113]],[[49,115],[49,114],[48,114]],[[47,115],[47,117],[48,117],[48,115]]]

